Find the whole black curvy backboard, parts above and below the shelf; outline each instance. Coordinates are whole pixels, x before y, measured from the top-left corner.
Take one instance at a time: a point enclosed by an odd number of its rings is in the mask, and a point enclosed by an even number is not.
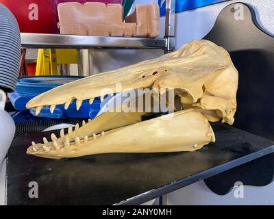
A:
[[[205,39],[227,49],[239,72],[234,127],[274,140],[274,37],[260,27],[250,5],[233,3],[219,14]],[[273,176],[274,153],[205,179],[205,183],[223,195],[236,181],[263,186]]]

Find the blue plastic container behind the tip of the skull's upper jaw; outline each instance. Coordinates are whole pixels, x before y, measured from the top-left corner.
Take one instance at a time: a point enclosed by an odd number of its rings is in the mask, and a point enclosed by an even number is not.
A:
[[[75,76],[35,76],[35,77],[19,77],[16,84],[15,92],[9,94],[10,101],[14,105],[16,110],[23,111],[28,110],[25,105],[29,100],[55,88],[61,86],[64,83],[69,83],[83,77]],[[83,101],[82,107],[79,111],[76,110],[76,100],[74,100],[69,106],[68,110],[64,110],[64,104],[57,105],[53,114],[51,114],[49,107],[43,107],[39,117],[44,118],[95,118],[100,110],[101,101],[100,98],[95,98],[92,105],[88,101]],[[29,112],[35,116],[33,109]]]

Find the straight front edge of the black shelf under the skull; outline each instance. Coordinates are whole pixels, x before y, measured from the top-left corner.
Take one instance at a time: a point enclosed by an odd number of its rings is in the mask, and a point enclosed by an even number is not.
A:
[[[225,164],[215,166],[214,168],[210,168],[208,170],[203,170],[202,172],[199,172],[199,173],[189,176],[187,178],[179,179],[178,181],[175,181],[168,185],[164,185],[164,186],[154,189],[154,190],[150,190],[143,194],[139,194],[138,196],[128,198],[127,200],[121,201],[120,203],[116,203],[114,205],[140,205],[142,203],[146,203],[147,201],[151,201],[154,198],[163,196],[164,194],[169,194],[170,192],[174,192],[175,190],[184,188],[187,185],[196,183],[197,181],[201,181],[208,177],[212,177],[212,176],[217,175],[221,172],[225,172],[226,170],[232,169],[232,168],[234,168],[236,166],[240,166],[242,164],[246,164],[247,162],[251,162],[254,159],[258,159],[259,157],[263,157],[263,156],[269,155],[271,153],[274,153],[274,145],[269,146],[266,149],[257,151],[255,153],[251,153],[244,157],[234,159],[234,160],[227,162]]]

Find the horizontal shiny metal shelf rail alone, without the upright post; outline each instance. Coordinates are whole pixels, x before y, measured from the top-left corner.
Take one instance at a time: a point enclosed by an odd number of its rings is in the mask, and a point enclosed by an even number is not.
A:
[[[166,49],[166,39],[135,37],[21,34],[22,47],[32,49]]]

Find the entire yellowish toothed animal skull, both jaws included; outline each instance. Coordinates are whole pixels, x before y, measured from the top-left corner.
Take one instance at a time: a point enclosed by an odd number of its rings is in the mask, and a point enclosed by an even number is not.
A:
[[[121,83],[120,87],[116,83]],[[108,89],[105,89],[108,88]],[[208,40],[193,40],[181,49],[155,60],[67,83],[36,96],[27,108],[65,104],[118,93],[128,89],[173,90],[182,109],[170,115],[142,121],[145,112],[106,112],[94,120],[51,135],[51,142],[34,143],[27,153],[60,159],[98,153],[151,153],[195,151],[214,142],[210,122],[232,125],[236,112],[238,71],[229,53]]]

